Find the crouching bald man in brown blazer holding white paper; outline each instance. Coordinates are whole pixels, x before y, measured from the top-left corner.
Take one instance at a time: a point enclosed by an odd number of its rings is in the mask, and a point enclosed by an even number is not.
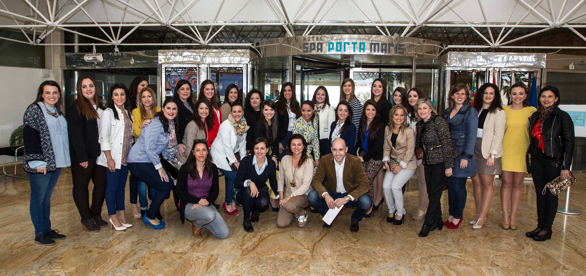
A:
[[[309,192],[307,199],[322,216],[334,207],[355,206],[350,231],[356,233],[359,230],[358,223],[370,208],[372,200],[366,195],[369,185],[360,158],[347,152],[348,147],[343,139],[332,142],[332,153],[322,156],[319,161],[312,180],[314,190]],[[332,225],[323,223],[323,228],[329,227]]]

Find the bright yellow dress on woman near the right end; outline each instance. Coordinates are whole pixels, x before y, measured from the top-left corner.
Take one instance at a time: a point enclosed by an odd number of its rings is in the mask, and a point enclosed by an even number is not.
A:
[[[529,117],[537,111],[534,107],[522,110],[503,108],[507,114],[503,136],[503,171],[527,172],[525,155],[529,146]]]

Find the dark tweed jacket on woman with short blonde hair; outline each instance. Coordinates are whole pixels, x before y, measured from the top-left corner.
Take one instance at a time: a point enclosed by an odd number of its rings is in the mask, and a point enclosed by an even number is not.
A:
[[[423,147],[425,165],[444,162],[445,168],[454,168],[454,158],[459,154],[454,149],[444,117],[434,114],[427,122],[419,120],[416,133],[415,148]]]

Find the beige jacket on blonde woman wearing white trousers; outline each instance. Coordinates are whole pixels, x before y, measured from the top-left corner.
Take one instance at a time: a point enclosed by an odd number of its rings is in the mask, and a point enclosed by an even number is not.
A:
[[[399,162],[403,169],[417,169],[417,160],[414,154],[415,131],[413,131],[413,128],[407,127],[399,131],[396,147],[393,147],[391,135],[393,135],[393,131],[390,131],[388,127],[384,128],[383,161],[390,161],[390,158],[393,158]]]

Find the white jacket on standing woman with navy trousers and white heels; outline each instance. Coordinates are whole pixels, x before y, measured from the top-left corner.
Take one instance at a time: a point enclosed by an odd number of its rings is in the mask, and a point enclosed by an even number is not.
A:
[[[116,168],[120,169],[122,165],[122,142],[124,142],[124,113],[115,107],[118,112],[118,119],[114,118],[112,108],[106,108],[100,119],[100,143],[101,154],[98,156],[96,163],[108,168],[108,160],[104,151],[110,151],[112,159],[116,162]],[[132,135],[132,133],[130,134]]]

